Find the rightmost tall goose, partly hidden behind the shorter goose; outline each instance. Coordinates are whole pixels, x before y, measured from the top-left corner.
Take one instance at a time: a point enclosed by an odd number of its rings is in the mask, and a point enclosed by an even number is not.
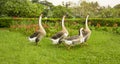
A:
[[[87,40],[91,36],[91,30],[88,27],[88,17],[89,17],[89,15],[87,15],[87,17],[86,17],[85,28],[83,29],[83,37],[84,37],[85,42],[87,42]]]

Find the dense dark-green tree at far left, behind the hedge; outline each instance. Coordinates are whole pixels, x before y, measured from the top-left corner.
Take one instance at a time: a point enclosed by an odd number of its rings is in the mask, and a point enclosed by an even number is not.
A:
[[[28,0],[5,0],[1,6],[1,15],[14,17],[36,17],[43,11],[43,5]]]

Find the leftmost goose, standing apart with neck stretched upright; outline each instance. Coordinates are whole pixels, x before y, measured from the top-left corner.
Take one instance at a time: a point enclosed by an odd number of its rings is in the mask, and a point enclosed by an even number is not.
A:
[[[46,31],[41,24],[41,20],[42,20],[42,14],[39,16],[39,30],[37,30],[29,37],[29,41],[35,42],[36,45],[38,45],[38,42],[46,35]]]

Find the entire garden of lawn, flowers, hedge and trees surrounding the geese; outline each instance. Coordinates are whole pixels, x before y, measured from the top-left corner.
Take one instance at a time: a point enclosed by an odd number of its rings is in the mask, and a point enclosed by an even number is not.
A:
[[[39,46],[28,37],[39,29],[38,17],[47,35]],[[52,45],[50,37],[61,30],[62,16],[69,36],[88,24],[92,31],[87,46]],[[47,0],[0,0],[0,64],[119,64],[120,4],[100,6],[82,1],[79,5],[62,2],[55,6]]]

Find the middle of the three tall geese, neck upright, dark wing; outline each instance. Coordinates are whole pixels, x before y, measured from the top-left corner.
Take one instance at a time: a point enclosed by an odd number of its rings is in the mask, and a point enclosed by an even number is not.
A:
[[[51,41],[53,44],[60,44],[62,42],[62,39],[68,36],[68,31],[64,25],[65,17],[66,16],[64,15],[62,18],[62,30],[51,37]]]

